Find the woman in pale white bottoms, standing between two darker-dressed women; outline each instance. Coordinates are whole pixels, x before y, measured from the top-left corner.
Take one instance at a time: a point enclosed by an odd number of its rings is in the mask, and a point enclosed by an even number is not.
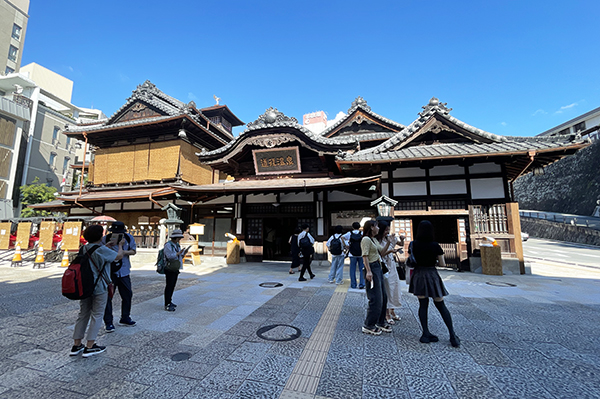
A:
[[[385,221],[379,222],[379,234],[377,234],[376,238],[381,245],[389,244],[387,254],[381,256],[383,263],[385,263],[389,270],[387,276],[383,276],[384,286],[388,297],[385,317],[389,324],[396,324],[395,320],[400,320],[400,317],[396,315],[394,309],[402,306],[402,303],[400,303],[400,277],[398,276],[398,270],[396,269],[397,263],[394,259],[394,253],[398,252],[400,248],[404,246],[404,238],[402,236],[396,237],[395,234],[390,234],[390,225]],[[396,246],[400,246],[400,248],[396,250]]]

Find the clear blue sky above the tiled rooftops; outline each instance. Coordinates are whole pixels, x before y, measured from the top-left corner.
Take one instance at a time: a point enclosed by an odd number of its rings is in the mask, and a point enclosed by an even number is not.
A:
[[[330,119],[357,96],[409,124],[451,115],[532,136],[600,106],[600,2],[31,0],[22,65],[113,114],[146,79],[245,123],[268,107]]]

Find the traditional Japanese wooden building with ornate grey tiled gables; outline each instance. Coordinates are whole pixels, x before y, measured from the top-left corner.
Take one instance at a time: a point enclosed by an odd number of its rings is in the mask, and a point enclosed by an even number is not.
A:
[[[512,182],[588,142],[498,136],[450,111],[433,98],[405,126],[358,97],[321,134],[270,108],[234,137],[231,127],[242,122],[226,106],[199,110],[146,82],[109,120],[66,131],[93,145],[94,159],[85,190],[62,193],[55,205],[139,228],[174,203],[184,225],[205,225],[205,254],[224,253],[224,235],[234,233],[255,261],[285,259],[288,238],[306,223],[316,258],[325,259],[332,227],[374,217],[371,202],[386,195],[397,201],[394,229],[412,238],[421,220],[431,220],[449,263],[464,266],[492,235],[522,272]]]

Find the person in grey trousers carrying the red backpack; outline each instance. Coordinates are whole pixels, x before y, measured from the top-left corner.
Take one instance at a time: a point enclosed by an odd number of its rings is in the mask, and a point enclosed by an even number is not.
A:
[[[102,245],[104,229],[99,224],[88,227],[83,233],[88,244],[80,250],[81,267],[91,269],[93,278],[92,295],[80,299],[79,316],[73,331],[73,347],[70,356],[77,356],[83,352],[83,357],[90,357],[102,353],[105,346],[96,345],[96,338],[102,323],[102,315],[106,309],[108,299],[108,285],[110,284],[110,264],[123,257],[123,244],[125,240],[118,243],[111,241]],[[110,247],[116,246],[117,251]],[[79,256],[78,256],[79,257]],[[85,288],[85,287],[84,287]],[[84,289],[85,290],[85,289]],[[89,323],[89,327],[88,327]],[[86,345],[82,340],[87,328]]]

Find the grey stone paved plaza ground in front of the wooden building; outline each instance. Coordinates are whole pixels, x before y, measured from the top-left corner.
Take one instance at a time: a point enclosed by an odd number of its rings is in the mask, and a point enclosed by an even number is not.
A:
[[[442,271],[463,345],[421,344],[418,302],[406,293],[392,334],[365,336],[365,295],[326,281],[299,283],[287,265],[226,267],[206,259],[181,275],[174,313],[163,280],[133,272],[133,328],[101,330],[106,353],[69,357],[78,304],[60,295],[62,269],[0,265],[0,398],[598,398],[600,272],[534,264],[532,276]],[[276,281],[280,288],[262,288]],[[497,287],[487,282],[510,282]],[[334,292],[345,298],[314,394],[286,387]],[[116,301],[115,308],[120,305]],[[256,335],[265,325],[302,331],[288,342]],[[173,361],[176,353],[188,360]],[[297,370],[296,370],[297,371]],[[294,396],[295,395],[295,396]]]

